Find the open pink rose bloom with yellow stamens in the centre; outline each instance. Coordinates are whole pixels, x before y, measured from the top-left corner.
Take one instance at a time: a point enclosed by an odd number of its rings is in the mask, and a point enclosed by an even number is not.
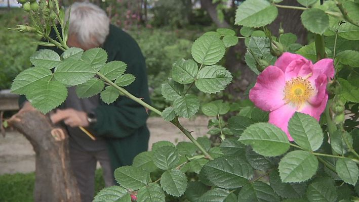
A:
[[[261,110],[269,111],[269,123],[288,132],[288,122],[295,112],[308,114],[319,121],[326,108],[326,86],[334,76],[332,59],[314,65],[304,57],[284,53],[257,77],[249,98]]]

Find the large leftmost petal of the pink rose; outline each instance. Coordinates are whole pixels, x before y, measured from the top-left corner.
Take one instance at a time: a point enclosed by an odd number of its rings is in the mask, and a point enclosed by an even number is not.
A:
[[[281,69],[268,66],[258,75],[257,82],[249,91],[249,98],[255,106],[263,111],[273,111],[285,104],[284,73]]]

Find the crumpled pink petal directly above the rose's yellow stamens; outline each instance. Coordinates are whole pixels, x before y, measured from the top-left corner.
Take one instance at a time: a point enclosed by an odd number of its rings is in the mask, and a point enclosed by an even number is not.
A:
[[[291,80],[293,77],[307,77],[312,73],[312,63],[308,60],[294,60],[288,64],[284,73],[286,81]]]

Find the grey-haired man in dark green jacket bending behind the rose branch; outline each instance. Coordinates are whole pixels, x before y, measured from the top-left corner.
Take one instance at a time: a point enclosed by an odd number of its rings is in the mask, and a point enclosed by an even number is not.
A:
[[[85,51],[102,47],[108,54],[107,62],[125,62],[126,73],[136,77],[126,89],[149,103],[145,60],[136,41],[110,25],[106,13],[96,5],[74,3],[70,8],[68,46]],[[60,49],[53,50],[61,54]],[[25,107],[28,106],[26,103]],[[115,168],[131,165],[137,154],[147,150],[147,116],[144,107],[127,97],[121,96],[106,105],[98,95],[78,98],[75,87],[68,88],[65,103],[51,116],[51,120],[63,122],[68,131],[71,165],[83,202],[93,199],[97,162],[103,168],[106,186],[110,186],[114,184]],[[96,140],[90,139],[79,126],[89,130]]]

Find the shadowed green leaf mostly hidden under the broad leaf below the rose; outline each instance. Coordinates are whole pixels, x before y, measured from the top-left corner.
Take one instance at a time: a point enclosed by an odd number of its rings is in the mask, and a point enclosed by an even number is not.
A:
[[[270,157],[264,157],[255,153],[252,148],[246,148],[246,159],[251,166],[256,170],[270,170],[274,167],[274,159]]]

